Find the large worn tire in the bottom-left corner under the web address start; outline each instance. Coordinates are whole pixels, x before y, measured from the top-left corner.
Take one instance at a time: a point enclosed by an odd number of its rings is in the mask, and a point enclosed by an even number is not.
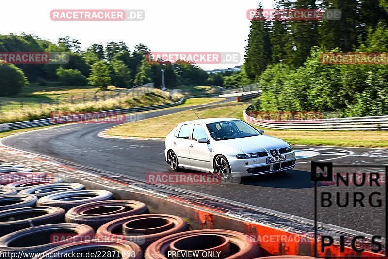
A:
[[[85,242],[93,239],[93,236],[93,228],[83,224],[41,225],[2,236],[0,238],[0,252],[26,256],[26,253],[40,253],[62,244],[75,241]]]

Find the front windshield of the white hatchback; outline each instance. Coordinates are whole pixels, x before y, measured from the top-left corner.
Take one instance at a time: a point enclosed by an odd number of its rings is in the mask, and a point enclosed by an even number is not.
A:
[[[259,131],[244,121],[220,121],[207,124],[211,137],[214,140],[244,138],[260,135]]]

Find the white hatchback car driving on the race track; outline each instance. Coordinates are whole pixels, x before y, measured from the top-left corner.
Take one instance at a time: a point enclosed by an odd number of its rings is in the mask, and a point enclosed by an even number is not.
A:
[[[165,146],[172,170],[215,173],[222,180],[285,171],[294,168],[296,161],[286,141],[234,118],[179,123],[167,135]]]

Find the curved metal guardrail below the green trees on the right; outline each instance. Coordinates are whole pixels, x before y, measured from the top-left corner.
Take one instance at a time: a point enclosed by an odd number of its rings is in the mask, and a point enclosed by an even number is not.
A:
[[[244,110],[244,120],[269,129],[283,130],[388,130],[388,116],[366,116],[329,118],[300,121],[262,120],[247,114],[251,106]],[[251,114],[254,115],[254,114]]]

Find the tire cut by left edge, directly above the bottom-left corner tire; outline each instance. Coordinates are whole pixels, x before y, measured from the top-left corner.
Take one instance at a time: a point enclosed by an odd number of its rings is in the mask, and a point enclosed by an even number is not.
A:
[[[0,211],[0,236],[24,228],[62,223],[65,210],[58,207],[22,207]]]

